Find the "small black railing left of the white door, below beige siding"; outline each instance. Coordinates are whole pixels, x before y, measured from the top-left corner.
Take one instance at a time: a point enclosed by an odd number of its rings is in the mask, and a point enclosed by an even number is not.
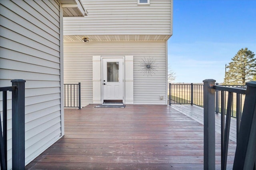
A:
[[[81,83],[64,84],[64,107],[81,109]]]

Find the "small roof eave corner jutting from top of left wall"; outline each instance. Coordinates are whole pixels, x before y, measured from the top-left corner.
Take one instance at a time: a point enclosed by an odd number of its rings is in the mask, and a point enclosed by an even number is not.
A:
[[[81,0],[60,0],[60,3],[64,17],[87,16],[88,14]]]

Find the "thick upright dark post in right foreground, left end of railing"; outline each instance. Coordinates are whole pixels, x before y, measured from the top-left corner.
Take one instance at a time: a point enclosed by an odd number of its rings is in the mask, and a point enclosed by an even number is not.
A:
[[[204,170],[215,170],[215,90],[216,80],[204,82]]]

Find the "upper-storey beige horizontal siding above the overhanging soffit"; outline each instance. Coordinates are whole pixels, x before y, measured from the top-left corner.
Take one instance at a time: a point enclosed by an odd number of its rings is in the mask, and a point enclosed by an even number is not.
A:
[[[171,0],[83,0],[88,16],[64,18],[64,35],[170,35]]]

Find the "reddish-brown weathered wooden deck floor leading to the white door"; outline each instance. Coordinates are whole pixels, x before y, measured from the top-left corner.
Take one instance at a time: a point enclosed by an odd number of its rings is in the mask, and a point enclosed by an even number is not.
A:
[[[65,135],[26,169],[203,169],[203,125],[170,106],[65,109]],[[236,144],[230,141],[227,169]],[[220,134],[216,133],[216,169]]]

